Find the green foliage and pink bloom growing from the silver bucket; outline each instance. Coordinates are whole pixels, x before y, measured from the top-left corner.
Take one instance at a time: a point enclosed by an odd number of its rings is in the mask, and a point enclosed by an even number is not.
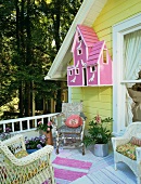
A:
[[[89,122],[88,135],[85,136],[86,146],[91,144],[106,144],[112,137],[112,133],[104,127],[104,122],[113,122],[112,118],[101,119],[99,115]]]

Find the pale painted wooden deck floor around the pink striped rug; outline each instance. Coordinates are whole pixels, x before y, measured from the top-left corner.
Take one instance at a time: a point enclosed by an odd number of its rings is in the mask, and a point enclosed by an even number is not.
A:
[[[91,148],[86,149],[86,155],[82,156],[80,149],[60,149],[60,154],[55,155],[55,150],[52,155],[52,160],[59,157],[72,158],[77,160],[90,161],[92,167],[88,171],[88,174],[77,179],[70,184],[136,184],[136,175],[125,163],[119,162],[117,165],[117,171],[114,170],[114,157],[113,152],[106,157],[95,157]],[[60,183],[66,184],[66,183]]]

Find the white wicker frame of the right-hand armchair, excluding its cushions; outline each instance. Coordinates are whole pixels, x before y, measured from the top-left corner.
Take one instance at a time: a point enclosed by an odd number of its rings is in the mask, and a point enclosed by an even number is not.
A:
[[[136,157],[137,157],[136,160],[130,159],[129,157],[126,157],[116,150],[117,146],[129,143],[131,137],[137,136],[137,135],[141,136],[141,122],[133,122],[129,124],[123,136],[112,137],[112,144],[113,144],[113,149],[114,149],[115,170],[117,169],[116,167],[117,162],[119,161],[125,162],[134,172],[137,176],[137,183],[141,184],[141,147],[136,148]]]

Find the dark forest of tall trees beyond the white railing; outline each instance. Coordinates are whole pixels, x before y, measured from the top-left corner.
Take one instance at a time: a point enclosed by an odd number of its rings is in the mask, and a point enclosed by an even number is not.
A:
[[[61,110],[61,81],[44,76],[81,3],[0,0],[0,119],[33,116],[33,109],[50,113],[54,94]]]

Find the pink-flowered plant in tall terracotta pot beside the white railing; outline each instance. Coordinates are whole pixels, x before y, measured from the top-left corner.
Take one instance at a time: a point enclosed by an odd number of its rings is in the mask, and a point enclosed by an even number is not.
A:
[[[37,127],[37,131],[42,131],[42,133],[46,135],[47,137],[47,144],[49,145],[53,145],[53,140],[52,140],[52,121],[38,121],[38,127]]]

